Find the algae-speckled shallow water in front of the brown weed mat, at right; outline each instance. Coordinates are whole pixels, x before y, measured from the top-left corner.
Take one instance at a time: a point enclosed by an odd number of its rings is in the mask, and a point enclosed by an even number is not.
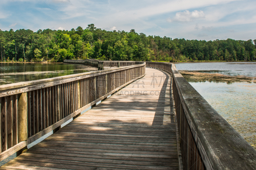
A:
[[[256,84],[189,82],[256,149]]]

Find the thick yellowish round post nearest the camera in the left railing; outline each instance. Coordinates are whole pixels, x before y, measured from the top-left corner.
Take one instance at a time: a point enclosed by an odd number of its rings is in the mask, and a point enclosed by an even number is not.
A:
[[[28,96],[27,92],[21,93],[18,100],[18,143],[28,139]],[[16,152],[19,156],[27,146]]]

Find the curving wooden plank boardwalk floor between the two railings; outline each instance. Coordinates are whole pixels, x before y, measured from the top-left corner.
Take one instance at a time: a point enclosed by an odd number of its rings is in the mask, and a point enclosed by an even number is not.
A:
[[[179,169],[171,77],[146,75],[0,169]]]

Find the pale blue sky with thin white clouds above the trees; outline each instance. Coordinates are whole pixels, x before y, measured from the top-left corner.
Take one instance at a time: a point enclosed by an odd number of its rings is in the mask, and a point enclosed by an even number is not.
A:
[[[1,0],[0,29],[88,24],[186,40],[255,40],[255,0]]]

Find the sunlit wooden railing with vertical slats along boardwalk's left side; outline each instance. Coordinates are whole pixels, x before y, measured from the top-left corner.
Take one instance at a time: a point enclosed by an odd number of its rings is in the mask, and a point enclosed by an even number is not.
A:
[[[1,85],[0,161],[143,77],[145,65]]]

